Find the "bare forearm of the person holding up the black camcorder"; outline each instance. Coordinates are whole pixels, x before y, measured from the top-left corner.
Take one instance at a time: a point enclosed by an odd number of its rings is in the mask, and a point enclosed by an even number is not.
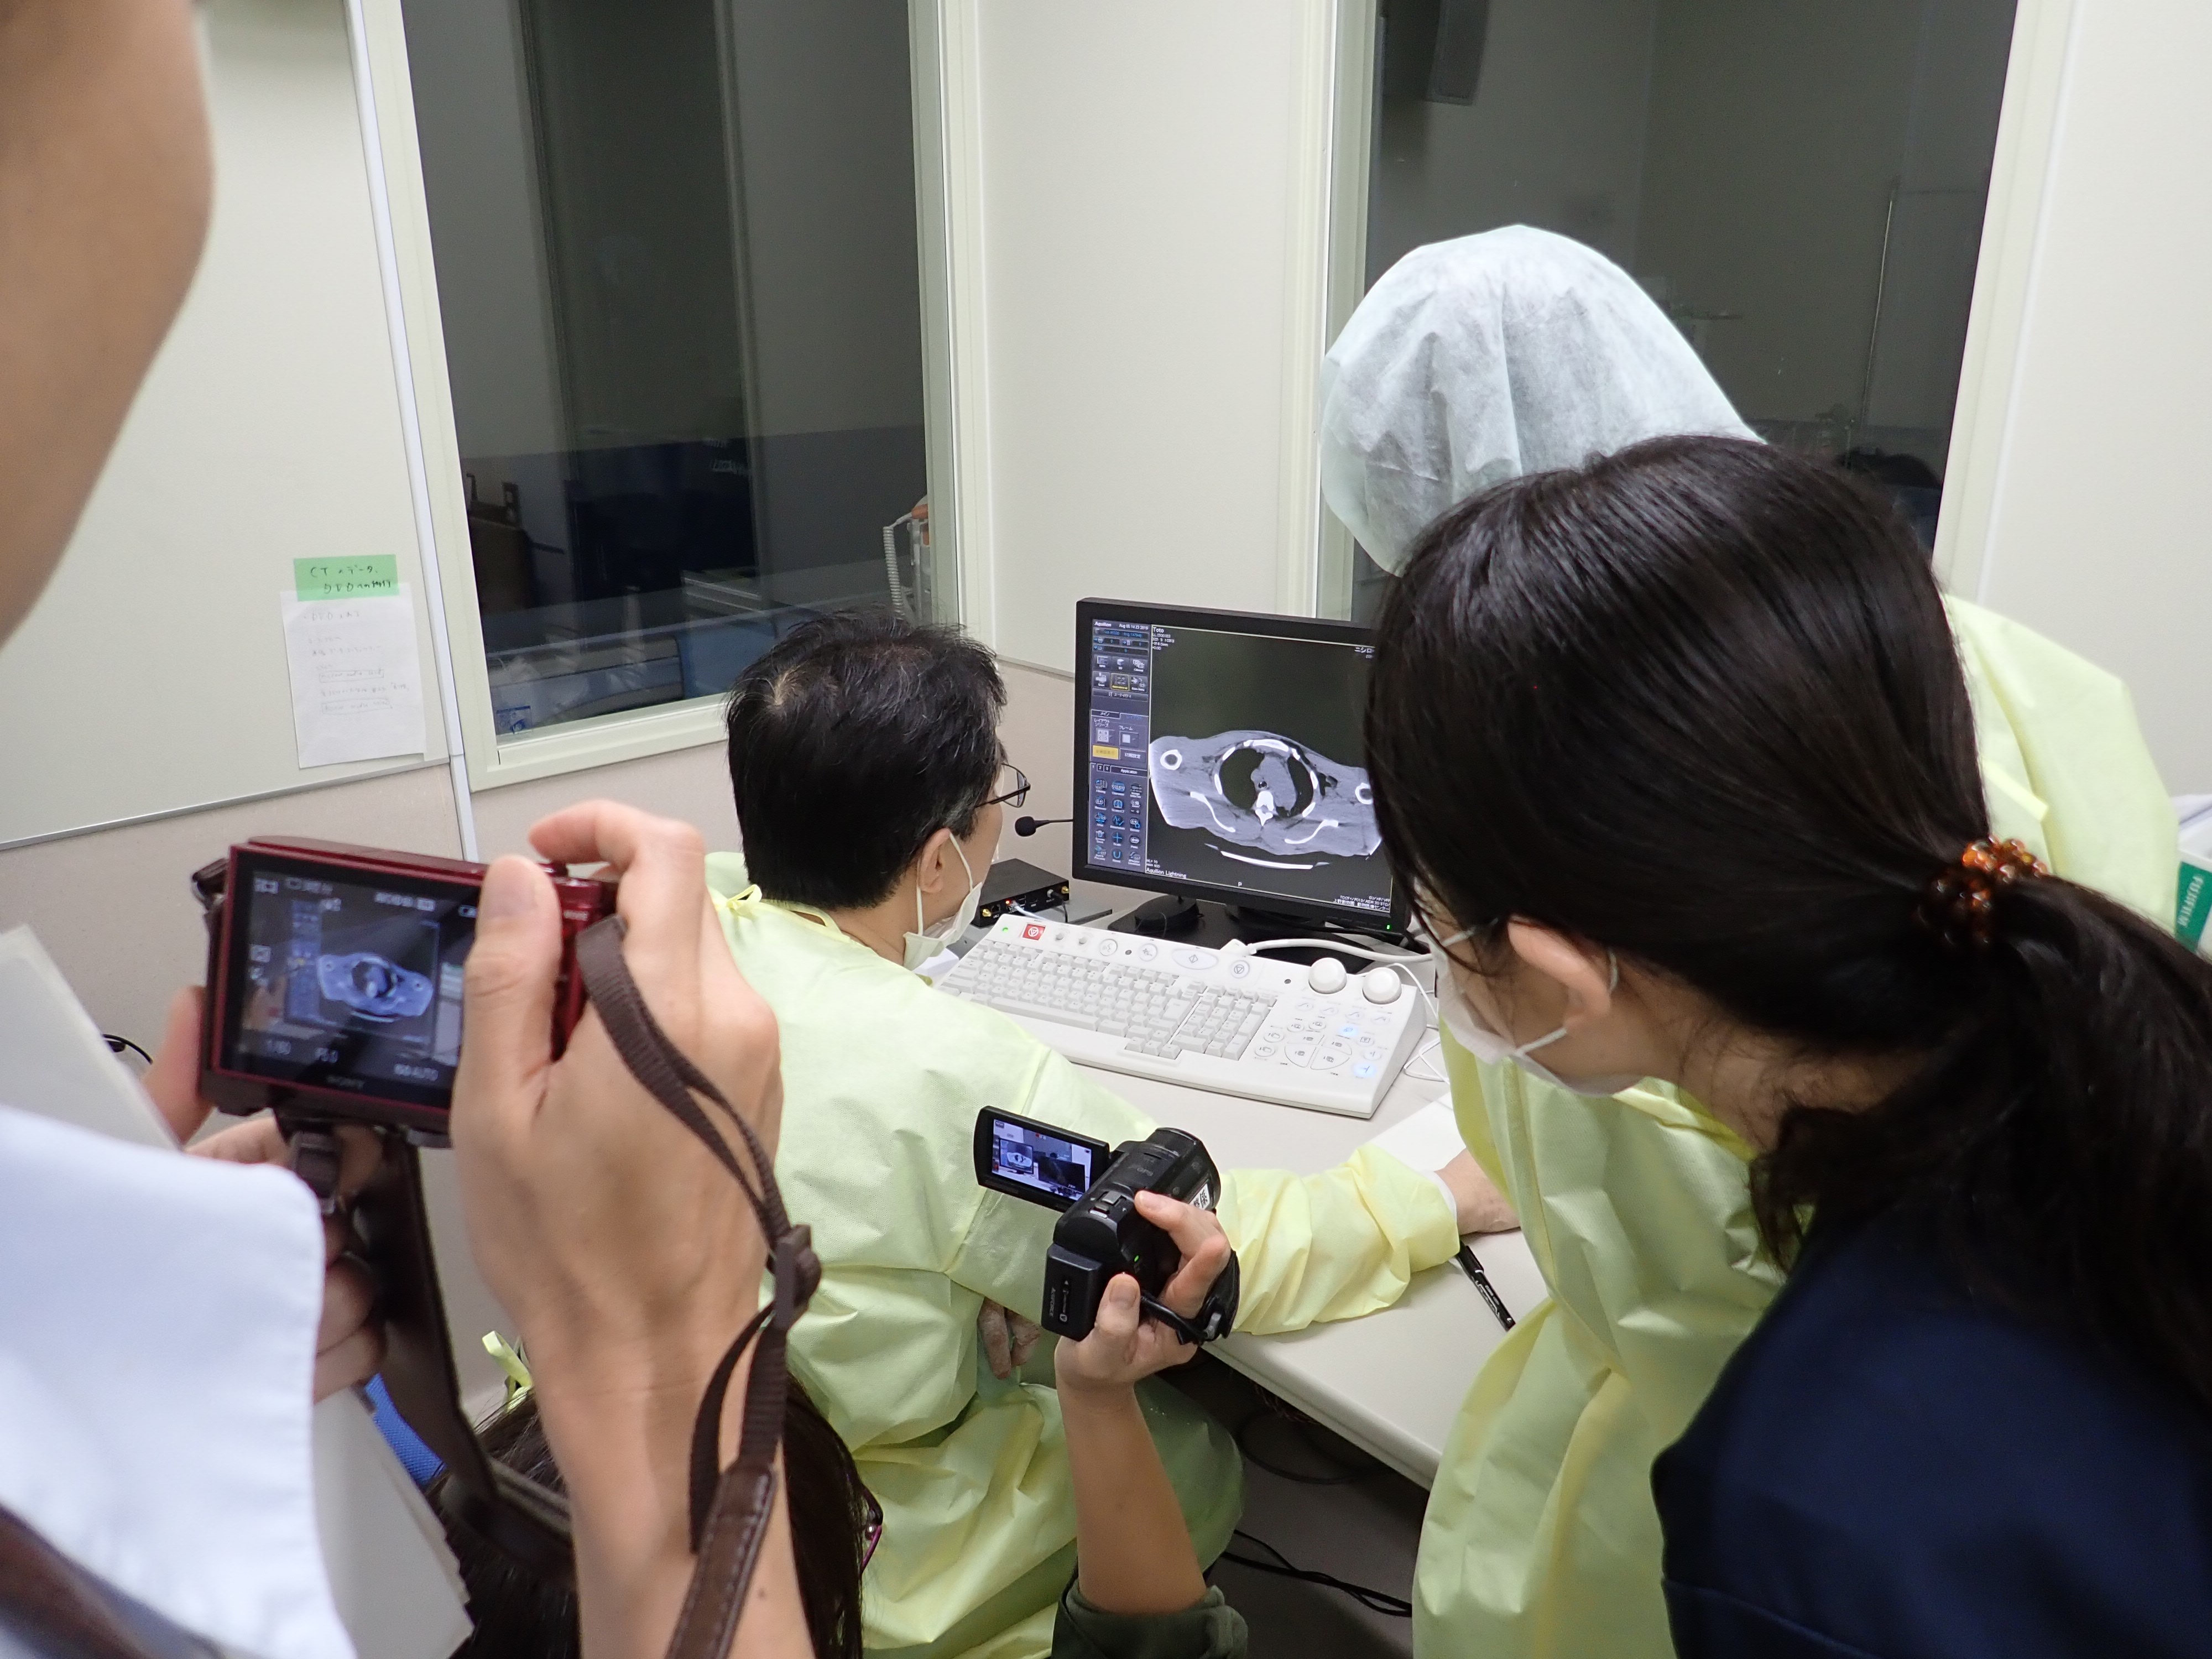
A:
[[[1183,1509],[1133,1389],[1060,1389],[1075,1478],[1075,1566],[1102,1613],[1181,1613],[1206,1599]]]

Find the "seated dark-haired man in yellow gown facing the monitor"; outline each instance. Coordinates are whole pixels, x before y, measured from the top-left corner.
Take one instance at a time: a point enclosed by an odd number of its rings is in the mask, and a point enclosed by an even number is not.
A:
[[[975,1113],[1106,1144],[1152,1130],[1013,1020],[916,971],[973,914],[998,845],[1002,701],[991,655],[956,633],[810,624],[732,692],[745,849],[708,856],[730,949],[781,1029],[776,1179],[823,1263],[792,1369],[885,1513],[863,1586],[876,1655],[1042,1659],[1073,1568],[1057,1396],[995,1374],[987,1347],[1004,1343],[998,1307],[1037,1318],[1055,1217],[978,1188]],[[1484,1190],[1464,1186],[1469,1203]],[[1245,1332],[1385,1307],[1482,1221],[1378,1148],[1310,1179],[1230,1170],[1219,1210]],[[1141,1394],[1212,1559],[1243,1504],[1237,1449],[1175,1389]]]

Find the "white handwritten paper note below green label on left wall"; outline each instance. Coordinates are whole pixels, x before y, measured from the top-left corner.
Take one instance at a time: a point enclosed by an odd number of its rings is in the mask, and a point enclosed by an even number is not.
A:
[[[396,593],[303,599],[281,593],[299,763],[383,761],[422,752],[422,657],[414,599]]]

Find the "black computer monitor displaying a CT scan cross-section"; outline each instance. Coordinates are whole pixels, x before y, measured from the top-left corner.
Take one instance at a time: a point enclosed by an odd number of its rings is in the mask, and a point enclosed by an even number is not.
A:
[[[1405,925],[1349,622],[1075,606],[1075,876],[1360,929]]]

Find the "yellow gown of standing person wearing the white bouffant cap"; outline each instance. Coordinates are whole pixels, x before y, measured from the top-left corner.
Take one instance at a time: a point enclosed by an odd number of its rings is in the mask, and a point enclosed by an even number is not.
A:
[[[2163,920],[2174,810],[2126,686],[1949,608],[1995,834]],[[1659,1082],[1586,1099],[1444,1051],[1460,1133],[1513,1199],[1551,1301],[1491,1354],[1444,1444],[1413,1648],[1663,1659],[1650,1464],[1781,1283],[1752,1225],[1750,1148]]]

